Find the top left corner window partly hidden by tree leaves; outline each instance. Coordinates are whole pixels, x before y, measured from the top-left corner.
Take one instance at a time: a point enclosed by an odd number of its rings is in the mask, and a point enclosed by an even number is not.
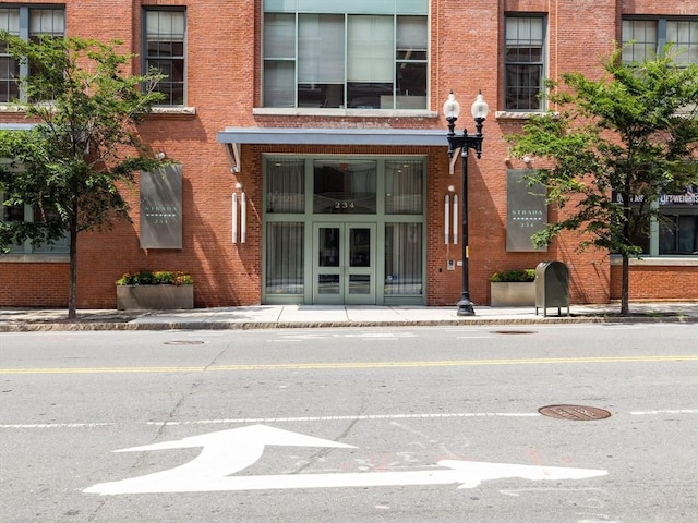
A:
[[[12,36],[38,40],[41,36],[62,38],[65,35],[65,11],[60,8],[2,8],[0,31]],[[32,65],[13,59],[5,44],[0,44],[0,104],[25,99],[19,78],[32,74]]]

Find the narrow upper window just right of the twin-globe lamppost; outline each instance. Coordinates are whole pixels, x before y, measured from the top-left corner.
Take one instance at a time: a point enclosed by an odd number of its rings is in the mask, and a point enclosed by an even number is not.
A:
[[[505,27],[505,87],[507,111],[544,108],[545,19],[507,16]]]

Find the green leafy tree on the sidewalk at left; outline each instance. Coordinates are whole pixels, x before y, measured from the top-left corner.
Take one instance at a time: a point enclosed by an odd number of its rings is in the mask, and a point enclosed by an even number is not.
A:
[[[19,80],[26,101],[17,101],[28,131],[0,132],[2,205],[29,205],[33,222],[0,222],[0,248],[31,240],[53,244],[70,239],[69,318],[75,317],[79,232],[109,229],[129,219],[118,182],[160,166],[140,141],[136,126],[161,94],[155,72],[127,73],[133,56],[81,38],[26,41],[0,33],[13,59],[31,73]],[[145,89],[143,87],[146,87]],[[9,163],[8,163],[9,161]]]

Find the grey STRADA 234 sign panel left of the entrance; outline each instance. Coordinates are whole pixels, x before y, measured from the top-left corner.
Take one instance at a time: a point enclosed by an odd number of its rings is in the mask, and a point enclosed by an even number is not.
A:
[[[182,166],[141,173],[141,247],[182,248]]]

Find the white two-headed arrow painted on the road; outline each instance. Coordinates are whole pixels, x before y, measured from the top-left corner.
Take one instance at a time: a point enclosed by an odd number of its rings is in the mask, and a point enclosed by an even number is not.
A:
[[[120,482],[100,483],[84,491],[118,495],[449,484],[459,484],[458,488],[474,488],[483,481],[504,477],[532,481],[582,479],[607,474],[606,471],[591,469],[445,460],[438,462],[444,469],[426,471],[230,476],[253,464],[262,455],[266,445],[356,448],[264,425],[253,425],[179,441],[119,450],[117,452],[203,447],[202,453],[184,465]]]

